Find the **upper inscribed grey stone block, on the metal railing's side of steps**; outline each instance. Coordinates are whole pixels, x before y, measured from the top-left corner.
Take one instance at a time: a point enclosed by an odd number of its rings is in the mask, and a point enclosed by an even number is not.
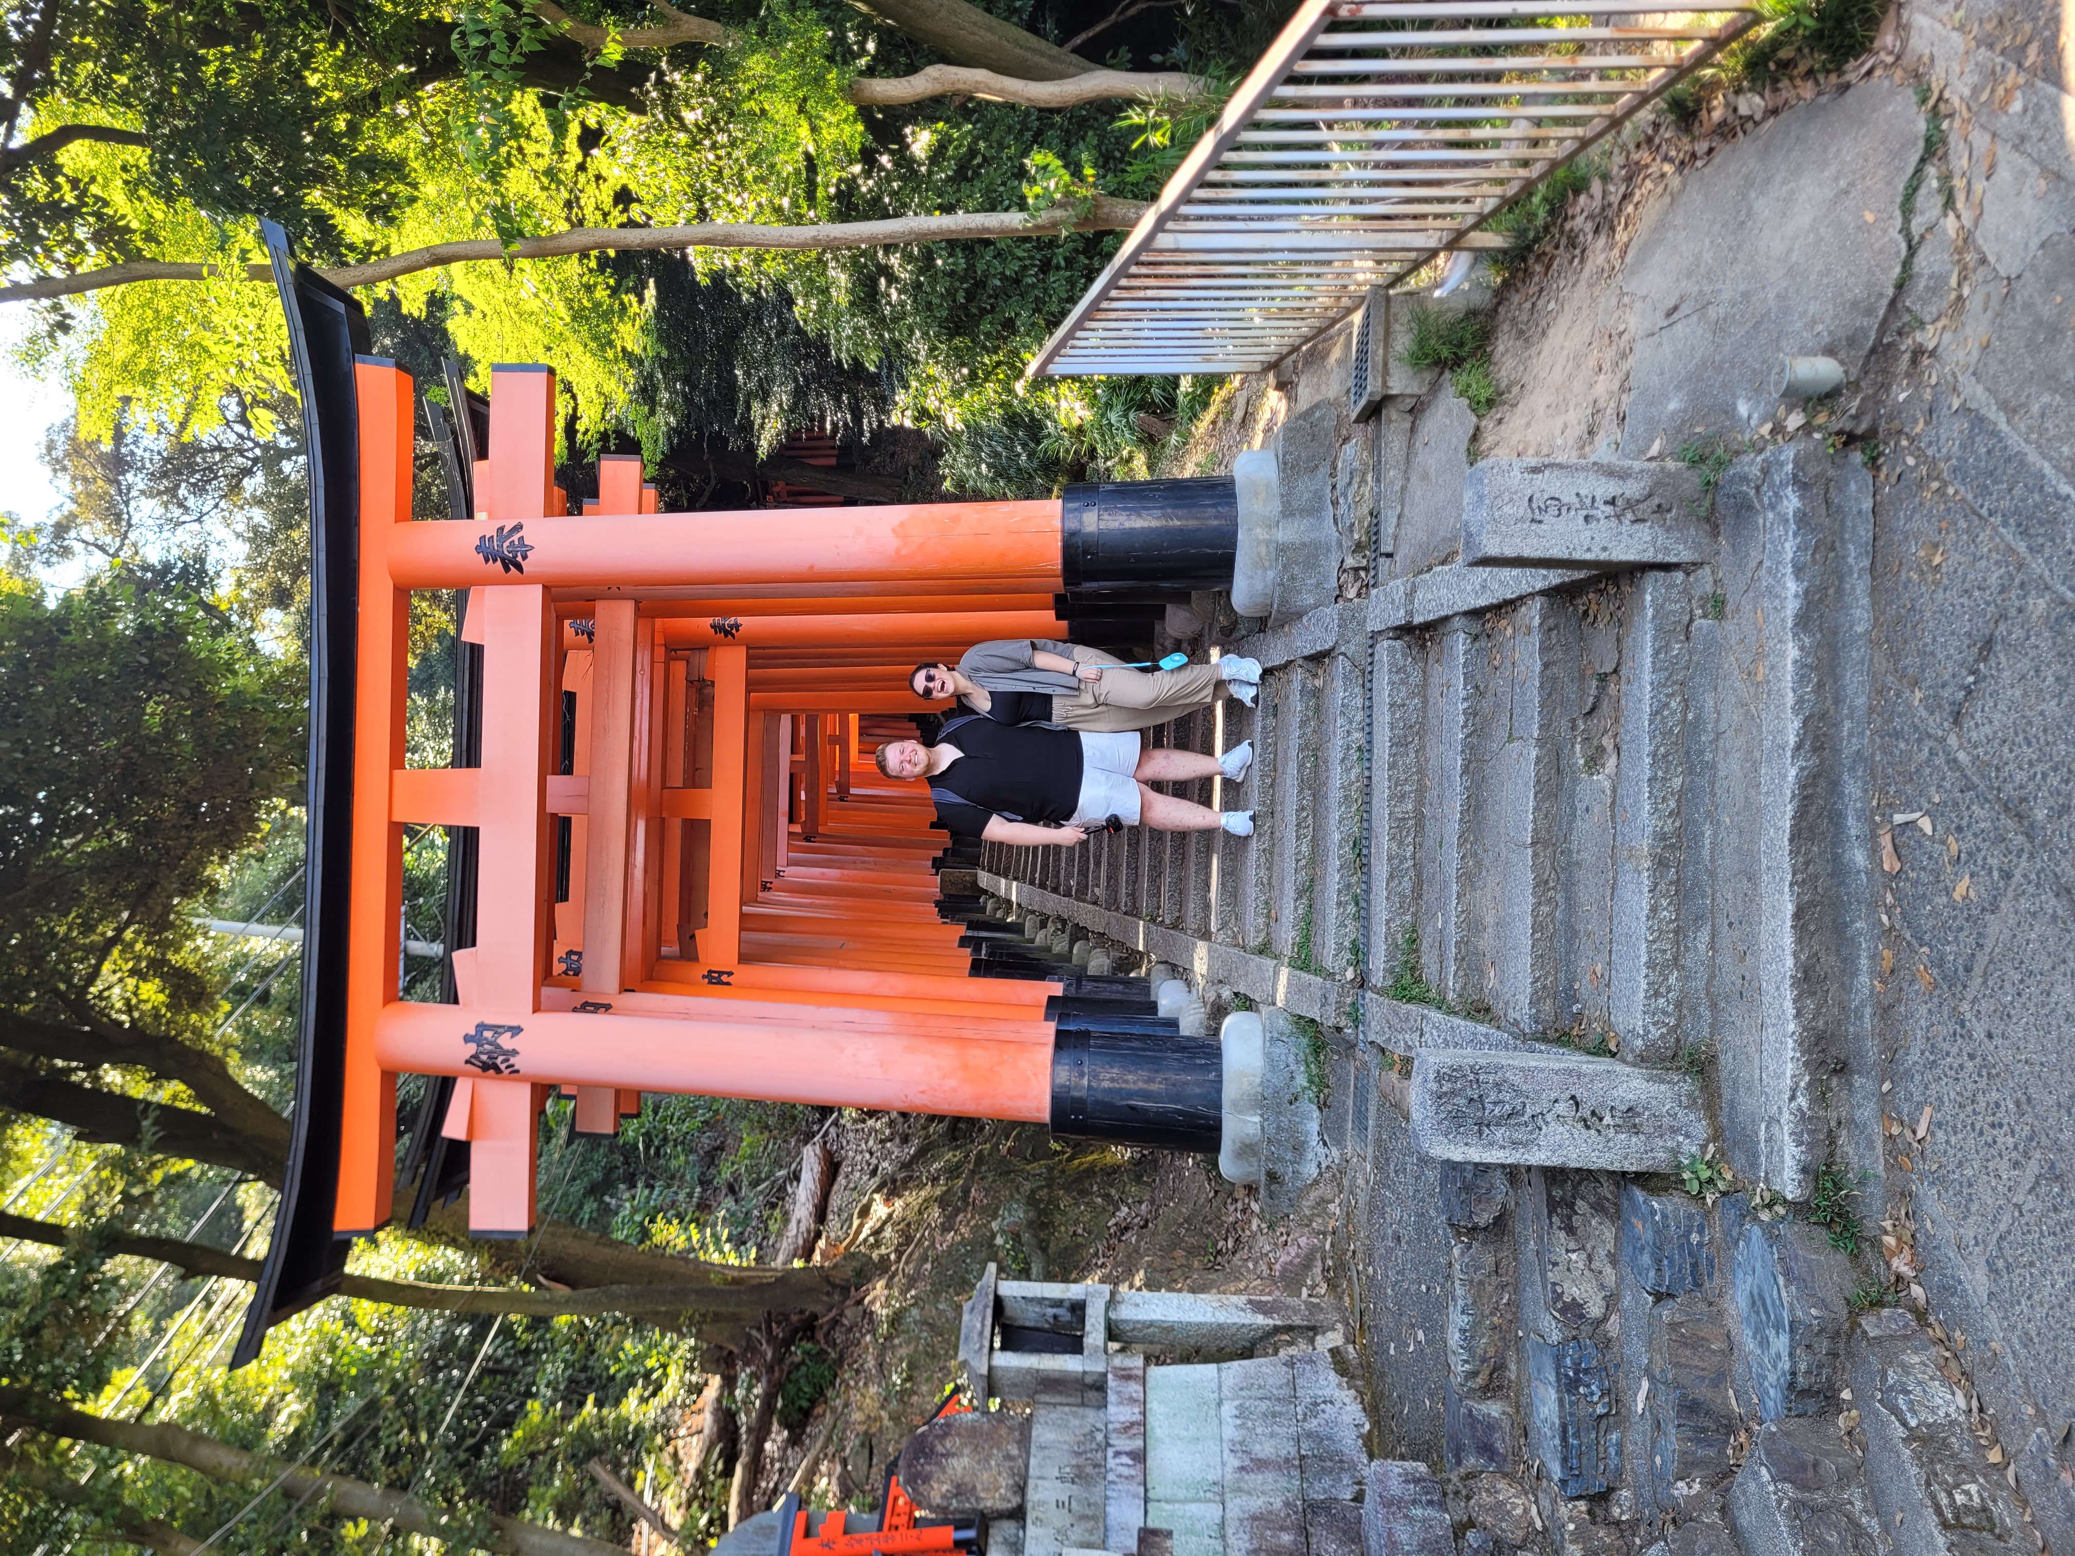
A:
[[[1699,471],[1486,459],[1463,481],[1465,566],[1668,566],[1714,556]]]

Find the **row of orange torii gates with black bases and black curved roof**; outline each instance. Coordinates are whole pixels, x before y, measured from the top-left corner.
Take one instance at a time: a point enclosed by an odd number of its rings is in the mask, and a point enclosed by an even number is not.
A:
[[[411,1164],[434,1131],[467,1141],[477,1237],[533,1228],[556,1091],[593,1133],[683,1091],[1218,1149],[1218,1046],[1143,985],[984,956],[1006,925],[944,898],[957,851],[928,788],[869,747],[913,732],[919,660],[1228,587],[1230,479],[666,515],[614,456],[571,515],[554,373],[515,365],[492,369],[488,417],[459,380],[452,425],[427,407],[465,500],[415,521],[421,386],[268,241],[309,444],[309,900],[288,1185],[237,1361],[396,1212],[400,1075],[432,1077]],[[405,759],[413,589],[465,591],[479,647],[450,768]],[[452,1004],[398,988],[403,838],[423,824],[459,840]],[[454,1174],[436,1178],[421,1199]]]

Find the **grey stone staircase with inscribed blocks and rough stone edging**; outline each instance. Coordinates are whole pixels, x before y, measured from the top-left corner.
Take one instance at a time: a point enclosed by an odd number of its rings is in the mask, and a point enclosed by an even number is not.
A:
[[[1807,440],[1708,488],[1525,465],[1477,467],[1453,558],[1228,635],[1255,710],[1150,734],[1251,737],[1247,784],[1183,793],[1253,838],[988,846],[979,882],[1284,1033],[1322,1141],[1264,1118],[1264,1210],[1338,1164],[1376,1452],[1444,1471],[1463,1552],[2042,1550],[1957,1371],[1807,1220],[1880,1164],[1868,475]]]

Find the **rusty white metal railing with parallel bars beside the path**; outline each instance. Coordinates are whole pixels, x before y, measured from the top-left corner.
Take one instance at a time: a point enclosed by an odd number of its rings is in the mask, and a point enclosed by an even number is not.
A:
[[[1755,21],[1305,0],[1029,371],[1262,371],[1370,286],[1506,247],[1479,228]]]

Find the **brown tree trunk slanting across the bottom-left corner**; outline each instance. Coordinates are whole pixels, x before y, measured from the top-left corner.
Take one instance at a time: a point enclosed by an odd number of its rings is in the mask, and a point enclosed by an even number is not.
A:
[[[405,1533],[475,1544],[467,1533],[467,1521],[457,1519],[436,1502],[425,1502],[407,1492],[388,1492],[347,1475],[301,1467],[282,1471],[274,1461],[232,1448],[228,1442],[205,1438],[187,1427],[110,1421],[102,1415],[75,1411],[27,1388],[0,1388],[0,1413],[58,1438],[162,1458],[168,1465],[197,1469],[212,1479],[249,1483],[280,1475],[280,1485],[288,1496],[303,1496],[305,1500],[326,1496],[330,1498],[330,1506],[349,1519],[392,1521]],[[560,1529],[546,1529],[502,1512],[492,1512],[490,1523],[498,1533],[488,1548],[510,1552],[510,1556],[627,1556],[620,1546],[608,1546],[587,1535],[569,1535]]]

